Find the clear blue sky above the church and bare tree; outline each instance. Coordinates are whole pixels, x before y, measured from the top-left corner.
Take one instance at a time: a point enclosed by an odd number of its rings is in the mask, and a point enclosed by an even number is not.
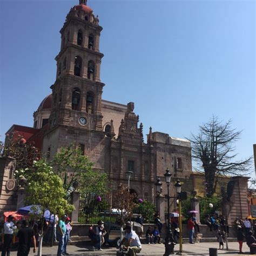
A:
[[[1,0],[1,128],[33,125],[51,93],[66,14],[78,0]],[[103,99],[153,131],[184,138],[212,114],[255,139],[255,1],[89,0],[103,26]],[[116,131],[117,132],[117,131]]]

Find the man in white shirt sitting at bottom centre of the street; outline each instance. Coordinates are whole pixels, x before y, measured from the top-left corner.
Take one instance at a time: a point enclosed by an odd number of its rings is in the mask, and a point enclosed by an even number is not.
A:
[[[128,249],[126,255],[135,256],[136,253],[142,251],[142,244],[140,243],[139,237],[130,225],[125,226],[125,237],[120,243],[120,246],[123,244]]]

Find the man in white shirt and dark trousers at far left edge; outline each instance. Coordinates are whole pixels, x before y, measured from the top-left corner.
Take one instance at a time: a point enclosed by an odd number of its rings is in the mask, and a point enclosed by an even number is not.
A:
[[[15,224],[12,222],[14,220],[14,216],[9,215],[6,223],[4,224],[4,243],[3,243],[3,249],[2,249],[2,256],[5,256],[7,253],[7,256],[10,255],[10,246],[12,237],[14,234],[14,230],[16,230]]]

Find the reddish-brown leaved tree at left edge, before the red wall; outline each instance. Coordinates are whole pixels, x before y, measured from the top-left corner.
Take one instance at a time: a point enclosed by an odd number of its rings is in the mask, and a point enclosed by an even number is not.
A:
[[[16,159],[16,169],[31,167],[33,160],[38,160],[40,153],[33,142],[26,140],[17,132],[6,134],[5,144],[0,143],[0,152],[3,157]]]

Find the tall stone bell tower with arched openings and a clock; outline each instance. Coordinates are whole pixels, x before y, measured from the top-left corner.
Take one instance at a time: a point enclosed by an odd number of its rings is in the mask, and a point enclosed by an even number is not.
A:
[[[99,52],[102,27],[98,16],[79,0],[60,30],[61,46],[56,56],[56,82],[52,89],[50,129],[56,125],[102,130],[102,90]]]

